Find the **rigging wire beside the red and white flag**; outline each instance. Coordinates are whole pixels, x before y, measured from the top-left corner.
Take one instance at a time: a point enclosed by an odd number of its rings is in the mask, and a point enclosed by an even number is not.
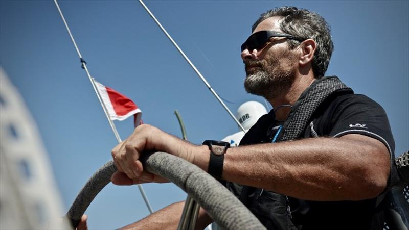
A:
[[[101,104],[101,107],[102,107],[102,109],[104,110],[105,116],[106,116],[106,118],[108,119],[109,126],[111,126],[112,132],[113,132],[113,134],[115,135],[115,137],[117,138],[118,143],[121,143],[121,142],[122,142],[121,137],[120,137],[119,134],[118,134],[118,131],[117,131],[116,127],[115,127],[115,124],[114,124],[113,121],[109,118],[108,110],[106,109],[106,106],[105,106],[105,104],[103,103],[103,101],[102,101],[102,99],[101,99],[101,95],[100,95],[100,93],[99,93],[98,90],[97,90],[97,87],[96,87],[96,85],[95,85],[94,78],[92,78],[92,76],[89,74],[88,68],[86,67],[86,62],[84,61],[84,59],[83,59],[82,56],[81,56],[80,50],[78,49],[77,43],[76,43],[75,40],[74,40],[74,37],[73,37],[73,35],[72,35],[72,33],[71,33],[71,30],[70,30],[70,28],[68,27],[67,22],[65,21],[64,15],[63,15],[62,12],[61,12],[61,9],[60,9],[60,7],[59,7],[59,5],[58,5],[58,3],[57,3],[57,0],[54,0],[54,3],[55,3],[55,6],[56,6],[57,9],[58,9],[58,12],[60,13],[60,16],[61,16],[62,21],[63,21],[64,24],[65,24],[65,28],[66,28],[68,34],[69,34],[70,37],[71,37],[71,41],[73,42],[73,44],[74,44],[74,46],[75,46],[75,49],[77,50],[77,54],[78,54],[78,56],[79,56],[79,58],[80,58],[80,61],[81,61],[81,67],[85,70],[85,72],[86,72],[86,74],[87,74],[87,76],[88,76],[88,79],[89,79],[91,85],[92,85],[93,88],[94,88],[95,94],[96,94],[97,97],[98,97],[98,100],[99,100],[99,102],[100,102],[100,104]],[[150,213],[153,213],[153,209],[152,209],[152,207],[151,207],[151,205],[150,205],[150,203],[149,203],[148,197],[146,196],[146,193],[145,193],[145,191],[144,191],[142,185],[138,185],[138,188],[139,188],[139,191],[141,192],[142,198],[144,199],[144,201],[145,201],[145,203],[146,203],[146,206],[147,206],[149,212],[150,212]]]

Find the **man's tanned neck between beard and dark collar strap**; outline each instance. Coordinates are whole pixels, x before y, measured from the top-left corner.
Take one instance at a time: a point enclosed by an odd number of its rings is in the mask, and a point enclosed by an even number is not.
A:
[[[312,74],[301,75],[294,80],[288,90],[284,91],[282,94],[279,94],[277,97],[268,100],[275,110],[277,120],[282,121],[287,119],[288,114],[291,111],[291,107],[282,105],[293,106],[305,89],[307,89],[314,82],[314,80],[315,78]]]

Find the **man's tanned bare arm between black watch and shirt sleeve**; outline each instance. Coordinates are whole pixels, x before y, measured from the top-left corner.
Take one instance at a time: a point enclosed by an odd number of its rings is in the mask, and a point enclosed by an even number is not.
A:
[[[389,175],[388,150],[370,137],[344,137],[230,148],[222,177],[309,200],[358,200],[378,195]],[[207,170],[206,158],[208,155],[202,154],[195,163]]]

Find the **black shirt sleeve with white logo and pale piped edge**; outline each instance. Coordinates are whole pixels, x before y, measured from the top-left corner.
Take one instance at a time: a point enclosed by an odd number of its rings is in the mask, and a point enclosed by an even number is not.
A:
[[[351,94],[339,101],[329,136],[361,134],[381,141],[394,158],[395,142],[387,114],[375,101],[364,95]]]

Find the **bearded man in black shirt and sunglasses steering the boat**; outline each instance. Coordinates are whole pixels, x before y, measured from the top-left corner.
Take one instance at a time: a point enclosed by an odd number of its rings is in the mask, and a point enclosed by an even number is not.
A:
[[[324,78],[333,44],[316,13],[282,7],[262,14],[242,45],[247,92],[274,107],[224,154],[221,179],[268,229],[381,229],[394,141],[383,109],[337,78]],[[300,126],[301,124],[301,126]],[[272,143],[277,142],[277,143]],[[112,150],[112,183],[164,182],[146,172],[144,151],[165,151],[205,171],[212,152],[140,125]],[[175,229],[183,202],[125,228]],[[211,222],[201,210],[198,228]]]

